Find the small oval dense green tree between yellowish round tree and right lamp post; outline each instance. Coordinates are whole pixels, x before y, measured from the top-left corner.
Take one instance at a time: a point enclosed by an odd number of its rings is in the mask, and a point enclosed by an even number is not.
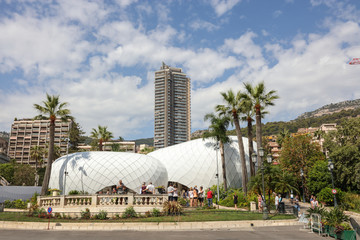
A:
[[[310,169],[306,186],[311,195],[317,195],[321,189],[331,187],[331,175],[327,167],[327,162],[320,160],[315,162]]]

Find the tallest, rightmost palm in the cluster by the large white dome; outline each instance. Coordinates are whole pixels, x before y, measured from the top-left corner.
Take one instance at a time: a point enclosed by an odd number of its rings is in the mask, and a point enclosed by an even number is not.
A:
[[[255,108],[256,115],[256,143],[257,143],[257,151],[259,152],[259,148],[262,146],[262,130],[261,130],[261,117],[262,112],[267,106],[274,105],[274,100],[278,99],[279,96],[276,95],[275,90],[271,90],[270,92],[266,92],[264,82],[260,82],[258,85],[253,87],[251,83],[244,83],[245,90],[247,92],[247,97],[250,101],[252,101]],[[258,163],[261,167],[262,161],[258,154]]]

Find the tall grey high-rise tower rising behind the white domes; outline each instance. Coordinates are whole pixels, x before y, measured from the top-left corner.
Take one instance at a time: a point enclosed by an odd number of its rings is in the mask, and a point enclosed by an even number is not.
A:
[[[190,140],[190,78],[181,68],[162,64],[155,72],[156,149]]]

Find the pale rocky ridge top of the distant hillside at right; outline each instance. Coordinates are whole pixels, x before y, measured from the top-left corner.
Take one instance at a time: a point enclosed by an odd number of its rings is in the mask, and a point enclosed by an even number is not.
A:
[[[314,111],[305,112],[298,116],[295,120],[311,117],[321,117],[323,115],[333,114],[343,110],[354,110],[357,108],[360,108],[360,99],[347,100],[338,103],[330,103]]]

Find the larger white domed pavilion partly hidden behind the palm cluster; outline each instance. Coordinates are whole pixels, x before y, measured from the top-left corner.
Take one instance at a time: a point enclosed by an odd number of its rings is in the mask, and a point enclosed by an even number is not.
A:
[[[241,162],[236,136],[230,136],[231,143],[225,145],[226,176],[228,187],[241,187]],[[248,139],[243,138],[245,158],[249,174]],[[196,139],[156,150],[148,155],[159,159],[168,171],[171,182],[188,187],[209,187],[217,184],[216,150],[212,139]],[[256,143],[254,143],[256,149]],[[251,160],[251,159],[250,159]],[[218,151],[219,180],[223,182],[221,156]]]

